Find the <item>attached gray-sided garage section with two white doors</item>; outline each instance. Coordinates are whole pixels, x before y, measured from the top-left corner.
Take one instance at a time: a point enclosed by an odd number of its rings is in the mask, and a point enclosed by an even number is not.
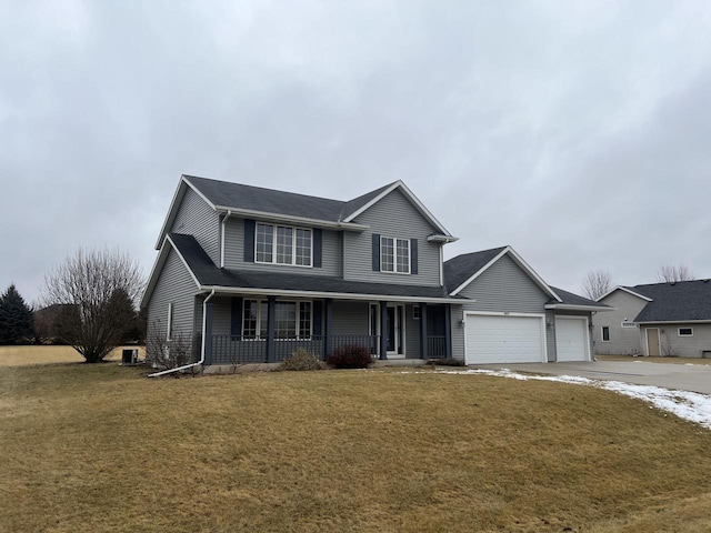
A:
[[[590,316],[609,308],[545,283],[511,248],[444,263],[455,356],[468,364],[590,361]]]

